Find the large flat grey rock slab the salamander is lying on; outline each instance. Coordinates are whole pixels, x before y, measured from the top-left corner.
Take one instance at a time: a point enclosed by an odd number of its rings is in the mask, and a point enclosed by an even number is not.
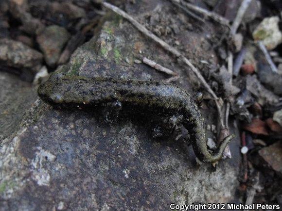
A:
[[[127,7],[127,12],[138,16],[140,11],[154,11],[160,3],[144,1],[141,6]],[[168,19],[178,17],[173,9],[162,6],[168,10]],[[189,45],[187,56],[199,66],[201,59],[215,65],[205,34],[185,30],[176,39],[183,40],[184,47]],[[191,44],[191,39],[197,44]],[[199,86],[184,66],[172,66],[176,62],[171,55],[114,14],[108,14],[101,31],[58,71],[87,77],[167,78],[134,63],[143,56],[179,73],[176,83],[190,94],[192,87]],[[203,65],[203,71],[205,68],[209,67]],[[207,124],[215,124],[215,110],[204,105],[202,113]],[[24,120],[25,127],[5,139],[0,148],[3,210],[168,210],[172,202],[237,202],[238,138],[230,144],[232,159],[220,162],[215,171],[210,164],[198,166],[192,147],[180,140],[152,139],[150,119],[122,114],[117,122],[106,124],[98,112],[55,110],[42,101],[35,104],[30,116],[36,118]]]

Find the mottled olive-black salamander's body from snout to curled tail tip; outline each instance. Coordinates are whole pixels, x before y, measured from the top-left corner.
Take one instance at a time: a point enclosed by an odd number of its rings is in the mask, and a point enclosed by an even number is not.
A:
[[[225,138],[211,153],[206,144],[204,121],[194,100],[180,87],[157,81],[110,78],[85,78],[51,74],[38,88],[39,97],[63,108],[108,108],[161,116],[183,116],[181,123],[189,131],[191,143],[201,162],[217,162],[233,135]]]

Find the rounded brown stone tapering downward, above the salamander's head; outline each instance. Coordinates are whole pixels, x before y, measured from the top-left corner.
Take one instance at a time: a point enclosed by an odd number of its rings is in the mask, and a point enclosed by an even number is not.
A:
[[[49,66],[56,65],[61,51],[70,38],[69,32],[56,25],[47,27],[36,40],[44,53],[44,58]]]

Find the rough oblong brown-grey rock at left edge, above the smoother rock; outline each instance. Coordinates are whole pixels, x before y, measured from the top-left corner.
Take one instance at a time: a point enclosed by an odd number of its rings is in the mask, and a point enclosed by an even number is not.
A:
[[[21,42],[6,38],[0,39],[0,64],[2,66],[17,68],[19,72],[31,71],[31,74],[34,75],[40,68],[42,59],[40,52]]]

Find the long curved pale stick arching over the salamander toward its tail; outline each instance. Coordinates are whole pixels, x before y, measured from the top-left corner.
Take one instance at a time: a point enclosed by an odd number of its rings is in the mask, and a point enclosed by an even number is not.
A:
[[[215,95],[215,93],[212,91],[212,88],[209,86],[207,81],[204,79],[204,77],[201,75],[201,73],[198,71],[198,69],[185,57],[183,56],[177,49],[174,47],[168,45],[166,42],[161,40],[159,37],[157,37],[152,32],[148,31],[143,25],[141,25],[137,20],[135,20],[132,16],[129,16],[127,13],[125,13],[120,8],[109,4],[107,2],[102,3],[106,8],[114,11],[115,13],[119,14],[120,16],[123,16],[125,19],[127,19],[129,22],[131,22],[140,32],[144,33],[151,39],[153,39],[155,42],[157,42],[162,48],[169,51],[170,53],[174,54],[176,57],[179,57],[186,65],[188,65],[196,77],[199,79],[199,81],[202,83],[202,85],[205,87],[205,89],[212,95],[212,97],[215,99],[215,104],[219,116],[219,122],[221,128],[224,128],[224,122],[223,122],[223,115],[221,111],[221,104],[219,102],[219,98]]]

